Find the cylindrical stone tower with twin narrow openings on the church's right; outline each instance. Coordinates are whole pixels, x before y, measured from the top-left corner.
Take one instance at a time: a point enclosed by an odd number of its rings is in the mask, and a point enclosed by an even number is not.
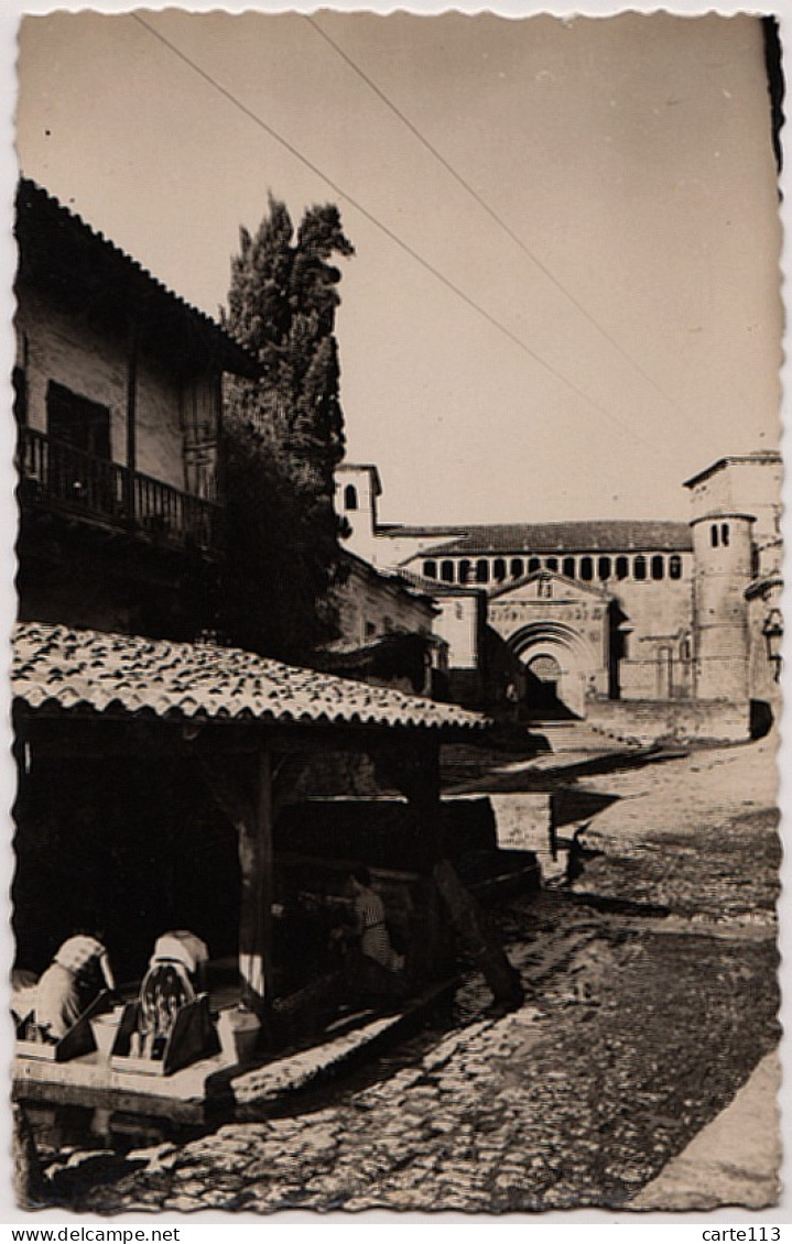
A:
[[[748,698],[748,608],[753,518],[725,510],[691,522],[696,697]]]

